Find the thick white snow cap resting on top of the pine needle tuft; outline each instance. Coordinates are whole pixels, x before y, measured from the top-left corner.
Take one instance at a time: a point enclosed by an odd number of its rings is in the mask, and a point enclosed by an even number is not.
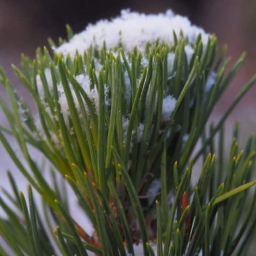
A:
[[[166,13],[146,15],[129,10],[121,11],[121,16],[109,20],[100,20],[95,25],[88,25],[84,31],[75,35],[70,42],[54,48],[57,53],[70,54],[74,58],[76,50],[83,53],[91,44],[102,47],[106,42],[107,49],[114,49],[120,42],[125,52],[131,52],[134,46],[141,52],[145,51],[146,43],[174,44],[173,30],[179,35],[183,31],[189,43],[195,43],[199,34],[205,46],[209,34],[202,28],[191,25],[187,17],[175,15],[171,10]]]

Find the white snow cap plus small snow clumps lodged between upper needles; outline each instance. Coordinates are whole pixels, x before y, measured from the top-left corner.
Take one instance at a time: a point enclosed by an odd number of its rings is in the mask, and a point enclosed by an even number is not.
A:
[[[126,59],[129,62],[129,66],[131,67],[131,60],[129,60],[129,53],[133,51],[134,47],[137,46],[137,49],[143,53],[145,52],[146,45],[149,42],[153,45],[155,42],[159,44],[166,43],[167,45],[174,45],[174,35],[173,31],[179,37],[180,32],[182,30],[183,38],[185,38],[185,53],[187,57],[188,63],[193,57],[194,44],[196,43],[197,37],[201,34],[201,39],[203,43],[203,49],[205,49],[207,41],[209,39],[209,34],[205,33],[202,28],[198,28],[197,26],[191,25],[190,21],[186,17],[182,17],[180,15],[175,15],[171,10],[166,11],[166,13],[159,14],[150,14],[146,15],[138,12],[130,12],[129,10],[121,11],[121,15],[117,18],[113,18],[111,20],[100,20],[95,25],[90,24],[85,28],[84,31],[75,35],[69,42],[62,44],[59,47],[54,47],[54,51],[56,53],[62,53],[64,58],[69,55],[71,59],[74,59],[76,53],[83,54],[84,51],[88,50],[92,45],[94,48],[101,49],[103,43],[106,44],[106,49],[116,49],[117,46],[122,45],[122,48],[125,52]],[[117,55],[116,52],[113,52],[113,55]],[[167,77],[175,75],[173,71],[175,54],[174,51],[170,51],[167,54]],[[121,58],[121,62],[123,64],[123,60]],[[99,70],[102,68],[100,60],[94,58],[94,69],[95,74],[98,76]],[[141,59],[141,67],[148,65],[147,56],[142,56]],[[123,65],[124,66],[124,65]],[[125,94],[124,99],[126,100],[126,116],[123,117],[123,132],[124,138],[127,132],[127,124],[129,122],[129,111],[131,107],[131,82],[127,70],[123,70],[123,79],[125,85]],[[213,74],[214,75],[214,74]],[[206,83],[206,90],[208,87],[211,87],[213,84],[214,76],[209,77]],[[92,104],[95,107],[95,110],[98,112],[99,108],[99,96],[97,88],[90,87],[90,77],[88,74],[86,75],[77,75],[75,76],[77,82],[81,84],[82,88],[86,92],[89,99],[92,101]],[[44,74],[38,74],[36,77],[37,89],[38,93],[42,100],[45,98],[43,82],[47,83],[50,92],[53,90],[52,85],[52,77],[50,69],[45,69]],[[139,81],[138,81],[139,83]],[[138,85],[138,84],[137,84]],[[61,111],[63,117],[65,119],[66,124],[69,123],[70,111],[68,107],[67,98],[65,92],[63,91],[63,86],[61,83],[57,85],[58,87],[58,96],[59,96],[59,104],[61,107]],[[70,85],[71,93],[73,94],[75,106],[79,110],[78,100],[75,95],[75,91],[73,87]],[[105,103],[106,106],[111,105],[111,97],[109,97],[109,87],[105,84]],[[163,99],[163,109],[162,109],[162,119],[168,120],[171,117],[171,114],[175,108],[177,103],[177,99],[175,99],[172,95],[166,94],[164,92]],[[148,96],[148,95],[147,95]],[[45,104],[46,108],[49,108],[47,104]],[[85,110],[88,114],[90,114],[89,109],[85,103]],[[78,111],[79,112],[79,111]],[[156,109],[155,109],[156,112]],[[140,123],[137,131],[137,139],[141,140],[143,134],[144,124]]]

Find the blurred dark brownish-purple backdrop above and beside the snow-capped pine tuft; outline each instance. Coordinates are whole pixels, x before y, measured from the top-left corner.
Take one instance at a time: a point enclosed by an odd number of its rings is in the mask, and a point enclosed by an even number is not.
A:
[[[11,63],[19,65],[21,52],[34,58],[36,47],[47,45],[48,37],[55,41],[59,36],[66,38],[67,23],[78,33],[89,22],[115,17],[121,9],[127,8],[144,13],[172,9],[186,15],[195,25],[217,35],[219,49],[228,44],[228,55],[233,57],[233,63],[243,51],[247,52],[244,66],[214,110],[214,119],[256,73],[255,0],[0,0],[0,65],[18,91],[25,93],[11,70]],[[255,92],[256,86],[229,118],[228,125],[241,119],[246,134],[256,131]]]

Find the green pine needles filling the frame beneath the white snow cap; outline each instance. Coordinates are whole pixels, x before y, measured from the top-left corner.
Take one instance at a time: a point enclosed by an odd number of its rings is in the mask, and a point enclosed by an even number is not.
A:
[[[67,30],[71,39],[73,32]],[[225,159],[223,126],[256,76],[206,132],[212,109],[245,54],[227,72],[226,47],[218,53],[214,36],[203,50],[198,35],[190,44],[194,50],[190,60],[186,36],[174,33],[174,38],[174,45],[148,43],[143,53],[135,47],[126,54],[121,43],[113,50],[91,45],[74,59],[49,53],[46,47],[37,50],[35,60],[22,55],[22,70],[14,66],[13,70],[33,97],[36,116],[0,70],[11,106],[0,100],[10,124],[1,126],[0,140],[31,184],[25,199],[9,172],[13,191],[3,193],[14,207],[0,198],[8,216],[0,219],[0,233],[13,255],[135,255],[140,245],[150,256],[245,255],[256,223],[256,189],[249,189],[256,183],[252,181],[256,138],[252,135],[239,150],[236,124]],[[169,53],[174,54],[170,76]],[[83,87],[80,78],[85,76],[98,101]],[[171,95],[174,107],[169,118],[163,118],[164,99]],[[29,170],[6,134],[15,137]],[[199,140],[202,144],[196,150]],[[45,179],[28,145],[47,158],[52,181]],[[201,174],[193,186],[191,176],[198,173],[193,164],[202,158]],[[57,180],[57,172],[68,184]],[[93,236],[71,217],[65,186],[77,195],[95,230]],[[33,190],[42,197],[43,214]],[[0,254],[10,255],[4,246]]]

